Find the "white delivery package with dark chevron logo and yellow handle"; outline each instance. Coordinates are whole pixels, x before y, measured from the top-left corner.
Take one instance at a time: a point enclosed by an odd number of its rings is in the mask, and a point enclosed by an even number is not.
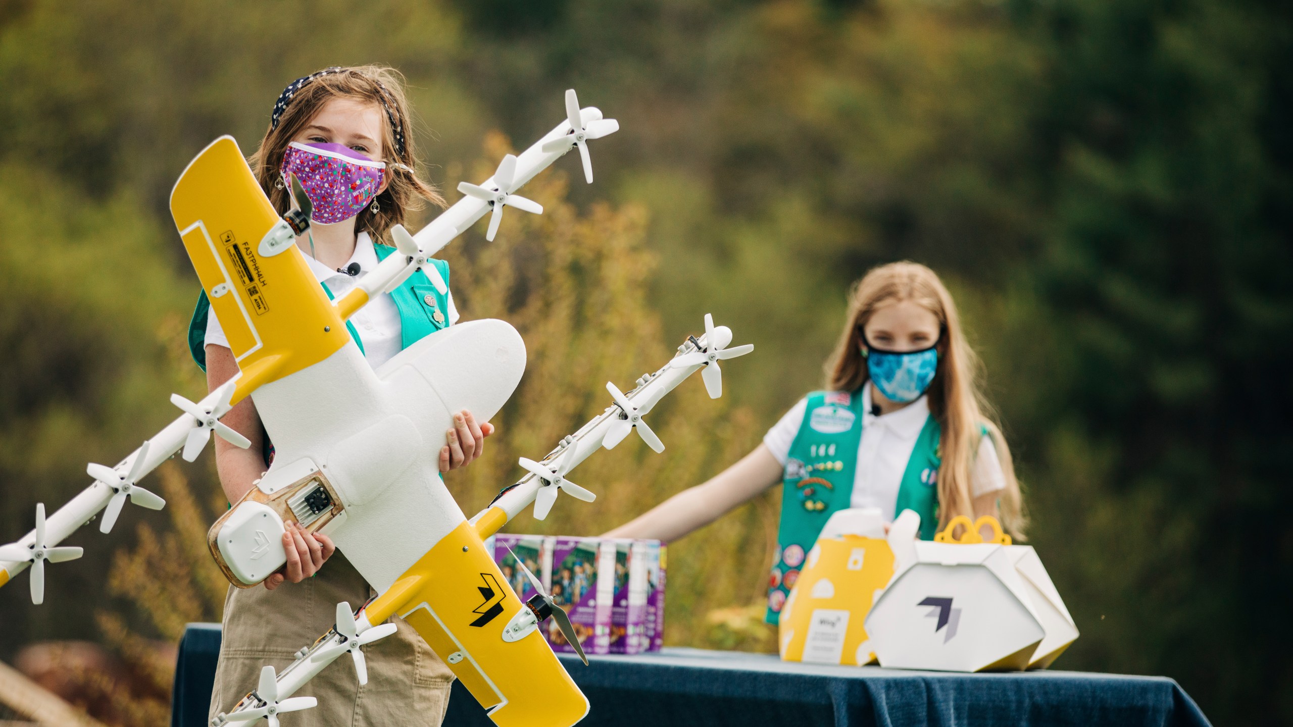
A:
[[[990,523],[997,542],[981,542]],[[966,525],[959,541],[950,533]],[[1077,638],[1032,547],[1010,546],[994,519],[959,517],[936,541],[915,541],[919,516],[890,530],[895,572],[866,617],[881,666],[983,671],[1046,666]]]

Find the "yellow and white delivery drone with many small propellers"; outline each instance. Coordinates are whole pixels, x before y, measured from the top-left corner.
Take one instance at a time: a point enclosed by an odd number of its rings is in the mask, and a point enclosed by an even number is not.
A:
[[[0,585],[30,567],[32,600],[40,603],[44,561],[81,554],[57,543],[105,507],[100,529],[109,532],[127,498],[154,510],[166,505],[137,485],[158,464],[181,449],[191,462],[212,432],[247,446],[220,418],[251,396],[275,457],[247,497],[211,529],[211,550],[225,576],[251,587],[277,570],[286,561],[283,524],[296,521],[328,534],[379,595],[358,613],[337,604],[334,629],[297,652],[282,673],[265,666],[256,689],[216,715],[215,727],[262,717],[277,727],[279,713],[313,706],[313,697],[291,695],[343,653],[352,655],[366,682],[358,647],[394,631],[381,625],[390,616],[418,630],[497,724],[562,727],[582,719],[588,701],[539,631],[539,622],[552,616],[578,644],[569,618],[542,589],[521,602],[484,539],[530,502],[534,515],[546,517],[559,490],[593,499],[565,476],[635,429],[662,451],[643,417],[697,370],[705,371],[706,388],[718,397],[718,362],[754,347],[727,348],[732,331],[706,316],[703,338],[688,336],[667,365],[637,379],[627,393],[608,383],[612,406],[564,437],[542,462],[522,458],[528,473],[468,520],[440,477],[443,432],[454,413],[469,409],[485,420],[511,397],[525,370],[521,336],[503,321],[462,323],[374,370],[345,327],[370,296],[393,290],[485,213],[491,213],[493,238],[504,206],[542,211],[513,193],[570,149],[579,150],[592,181],[586,142],[619,124],[595,107],[579,109],[574,91],[565,101],[565,122],[520,157],[504,157],[481,185],[460,185],[465,197],[416,235],[397,225],[392,234],[398,254],[335,301],[295,243],[309,226],[304,194],[296,195],[301,208],[281,217],[231,137],[198,154],[171,193],[171,213],[240,373],[198,402],[172,396],[184,411],[180,418],[115,467],[91,464],[94,483],[48,519],[37,505],[36,528],[0,547]]]

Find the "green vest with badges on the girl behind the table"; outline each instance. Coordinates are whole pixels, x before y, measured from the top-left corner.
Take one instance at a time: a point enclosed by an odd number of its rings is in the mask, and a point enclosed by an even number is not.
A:
[[[781,489],[777,558],[768,578],[765,621],[777,624],[781,608],[799,578],[799,569],[817,534],[837,510],[850,507],[857,448],[862,439],[861,392],[808,395],[804,420],[790,445]],[[915,439],[899,485],[895,515],[921,515],[921,538],[934,539],[939,528],[939,423],[934,417]]]

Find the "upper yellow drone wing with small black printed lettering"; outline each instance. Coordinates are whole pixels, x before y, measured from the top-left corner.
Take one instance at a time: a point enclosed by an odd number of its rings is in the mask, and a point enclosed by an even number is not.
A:
[[[171,216],[242,370],[234,401],[349,340],[231,136],[180,175]]]

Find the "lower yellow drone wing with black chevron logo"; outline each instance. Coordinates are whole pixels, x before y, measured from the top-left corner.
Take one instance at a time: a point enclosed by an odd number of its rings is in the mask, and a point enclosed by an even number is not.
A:
[[[574,724],[588,713],[588,700],[540,629],[503,639],[512,618],[526,609],[464,521],[365,613],[379,624],[390,613],[402,616],[499,727]]]

